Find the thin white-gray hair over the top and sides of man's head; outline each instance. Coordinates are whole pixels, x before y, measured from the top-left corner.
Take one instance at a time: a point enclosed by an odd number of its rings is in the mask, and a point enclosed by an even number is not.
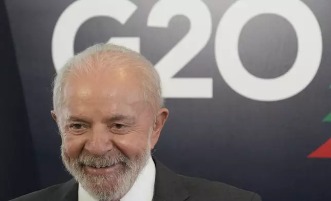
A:
[[[109,59],[112,58],[109,53],[116,53],[116,57],[119,57],[123,54],[130,55],[130,57],[133,58],[136,62],[144,64],[141,66],[135,66],[139,68],[142,72],[143,96],[144,98],[154,98],[156,105],[159,108],[163,107],[160,77],[155,70],[153,64],[148,59],[146,59],[140,53],[125,48],[123,46],[118,46],[114,44],[96,44],[71,57],[55,76],[53,81],[53,109],[56,113],[60,111],[62,104],[64,103],[63,91],[65,90],[64,87],[66,84],[67,77],[71,73],[77,73],[75,71],[88,72],[88,68],[91,68],[91,66],[93,66],[90,64],[89,61],[89,58],[91,56],[96,56],[98,63],[109,61]],[[100,54],[103,54],[103,56],[98,56]]]

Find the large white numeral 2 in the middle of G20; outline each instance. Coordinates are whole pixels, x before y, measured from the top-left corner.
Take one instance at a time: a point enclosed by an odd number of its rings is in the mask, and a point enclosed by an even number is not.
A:
[[[212,78],[173,78],[207,44],[211,35],[211,15],[208,7],[200,0],[161,0],[151,10],[147,25],[168,27],[176,15],[190,19],[190,31],[155,65],[159,72],[164,97],[211,98]],[[203,68],[203,66],[201,66]]]

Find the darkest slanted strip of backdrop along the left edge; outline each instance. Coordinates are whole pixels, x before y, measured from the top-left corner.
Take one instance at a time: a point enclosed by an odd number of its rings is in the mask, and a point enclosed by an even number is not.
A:
[[[0,200],[39,188],[28,116],[5,5],[0,2]]]

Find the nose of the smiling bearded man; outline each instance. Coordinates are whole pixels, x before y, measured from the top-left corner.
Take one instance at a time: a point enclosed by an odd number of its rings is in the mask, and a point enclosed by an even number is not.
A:
[[[90,133],[85,144],[85,150],[95,156],[102,156],[114,147],[112,133],[108,132],[107,126],[96,125]]]

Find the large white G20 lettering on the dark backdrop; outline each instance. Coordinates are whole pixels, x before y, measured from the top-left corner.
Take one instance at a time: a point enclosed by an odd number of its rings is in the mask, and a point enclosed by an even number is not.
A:
[[[59,17],[53,32],[55,68],[60,69],[74,54],[76,33],[85,21],[96,16],[107,16],[125,24],[136,9],[137,6],[128,0],[79,0],[69,5]],[[270,79],[250,74],[238,54],[238,39],[244,25],[254,16],[265,13],[286,18],[298,38],[298,53],[293,66],[285,74]],[[155,65],[162,81],[162,95],[166,98],[212,98],[211,77],[173,77],[209,41],[212,33],[209,8],[201,0],[160,0],[152,7],[146,26],[167,28],[176,15],[186,16],[191,28]],[[112,37],[109,43],[140,50],[139,37]],[[299,0],[239,0],[220,19],[214,48],[218,70],[230,88],[247,98],[272,102],[298,94],[314,79],[322,57],[322,35],[314,13]]]

